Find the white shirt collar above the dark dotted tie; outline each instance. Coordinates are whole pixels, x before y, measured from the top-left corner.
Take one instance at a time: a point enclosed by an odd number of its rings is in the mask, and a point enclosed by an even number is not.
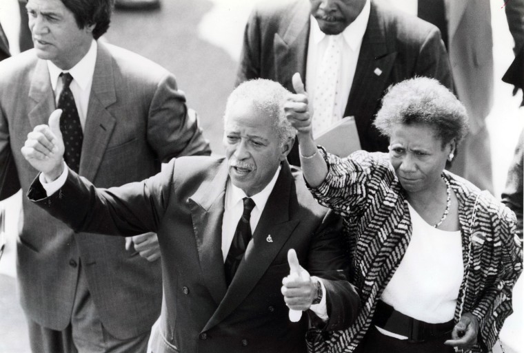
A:
[[[87,54],[81,58],[77,65],[74,65],[68,70],[60,69],[57,65],[54,65],[54,63],[48,60],[49,76],[51,78],[53,91],[57,90],[58,79],[62,72],[69,72],[80,88],[85,89],[93,78],[94,64],[97,62],[97,50],[97,41],[93,39]]]

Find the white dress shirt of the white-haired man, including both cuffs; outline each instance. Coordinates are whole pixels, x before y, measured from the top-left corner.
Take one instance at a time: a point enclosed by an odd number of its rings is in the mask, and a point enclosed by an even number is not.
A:
[[[63,162],[63,173],[57,178],[56,180],[52,182],[46,182],[45,178],[43,178],[43,173],[40,173],[39,180],[40,183],[43,186],[43,189],[46,190],[46,194],[48,196],[56,193],[59,191],[59,189],[63,186],[63,184],[66,183],[66,180],[68,178],[69,169],[66,165],[66,162]],[[256,225],[259,224],[260,216],[262,212],[264,211],[265,204],[268,202],[268,198],[270,197],[271,191],[273,191],[274,184],[276,183],[276,179],[279,178],[281,167],[276,170],[276,173],[274,174],[272,180],[269,182],[268,185],[265,186],[265,188],[257,193],[256,195],[252,195],[251,199],[254,201],[255,206],[253,208],[253,211],[251,211],[251,217],[250,217],[250,227],[251,227],[251,233],[254,233],[254,230],[256,228]],[[236,230],[236,224],[239,223],[240,217],[243,212],[243,197],[248,197],[245,195],[245,193],[242,191],[242,189],[236,187],[231,182],[231,179],[228,178],[228,184],[225,186],[225,201],[224,201],[224,214],[222,217],[222,255],[223,255],[223,261],[225,261],[225,258],[228,257],[228,251],[231,246],[231,243],[233,242],[234,237],[234,231]],[[314,304],[310,307],[310,310],[316,314],[317,317],[322,319],[324,322],[328,321],[328,306],[326,305],[325,301],[325,286],[322,282],[322,279],[319,277],[312,277],[312,279],[316,279],[320,282],[322,287],[322,300],[318,304]]]

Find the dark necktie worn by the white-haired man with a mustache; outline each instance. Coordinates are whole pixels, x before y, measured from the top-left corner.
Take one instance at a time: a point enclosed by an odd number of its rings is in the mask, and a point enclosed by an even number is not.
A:
[[[245,253],[245,248],[248,247],[251,239],[250,218],[251,211],[253,211],[255,204],[249,197],[244,197],[243,202],[244,211],[242,217],[240,217],[239,224],[236,225],[233,242],[231,243],[228,257],[225,258],[224,263],[225,282],[228,284],[228,287],[233,280],[236,269],[239,268],[240,261]]]

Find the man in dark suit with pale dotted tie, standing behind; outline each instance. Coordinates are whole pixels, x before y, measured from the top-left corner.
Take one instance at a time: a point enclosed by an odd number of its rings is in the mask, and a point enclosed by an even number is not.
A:
[[[314,21],[311,19],[314,18]],[[288,0],[261,3],[245,28],[236,83],[270,78],[292,89],[299,72],[312,93],[315,119],[326,111],[319,94],[325,76],[323,56],[331,39],[343,36],[338,71],[331,80],[334,102],[328,116],[354,116],[361,147],[387,151],[387,139],[373,125],[385,89],[414,76],[429,76],[452,87],[450,64],[439,30],[425,21],[390,12],[371,0]],[[321,91],[321,92],[319,92]],[[317,98],[315,96],[318,96]],[[315,107],[321,104],[322,108]],[[327,126],[333,121],[328,121]],[[299,163],[298,149],[290,162]]]

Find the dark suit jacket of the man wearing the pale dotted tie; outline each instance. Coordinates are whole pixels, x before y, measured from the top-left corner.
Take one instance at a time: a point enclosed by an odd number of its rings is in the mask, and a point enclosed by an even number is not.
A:
[[[305,78],[310,32],[310,3],[261,3],[245,28],[236,84],[252,78],[278,81],[293,91],[291,78]],[[381,74],[375,74],[379,68]],[[373,127],[385,89],[414,76],[429,76],[452,87],[450,64],[439,30],[406,14],[383,10],[372,1],[355,76],[344,116],[354,116],[361,147],[387,151],[389,142]],[[306,85],[308,83],[305,83]],[[296,148],[290,162],[298,164]]]

